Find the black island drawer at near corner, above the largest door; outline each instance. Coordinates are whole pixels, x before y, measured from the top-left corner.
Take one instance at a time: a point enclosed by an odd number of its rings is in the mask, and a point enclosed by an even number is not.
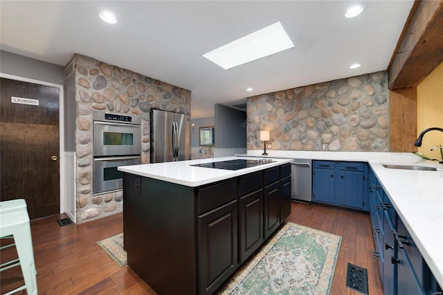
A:
[[[197,213],[201,214],[237,199],[237,179],[198,190]]]

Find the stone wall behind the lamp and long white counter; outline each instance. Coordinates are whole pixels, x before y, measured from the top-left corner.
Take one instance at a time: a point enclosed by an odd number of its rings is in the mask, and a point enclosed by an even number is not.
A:
[[[389,151],[388,73],[380,71],[247,98],[246,145],[261,150]]]

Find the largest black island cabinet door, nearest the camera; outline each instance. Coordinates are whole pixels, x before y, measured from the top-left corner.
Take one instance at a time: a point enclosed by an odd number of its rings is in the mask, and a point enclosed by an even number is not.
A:
[[[199,294],[213,294],[238,267],[237,204],[198,216]]]

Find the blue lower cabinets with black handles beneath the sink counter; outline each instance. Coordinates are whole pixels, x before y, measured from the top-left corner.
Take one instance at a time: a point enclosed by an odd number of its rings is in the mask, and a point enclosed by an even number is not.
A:
[[[442,294],[441,287],[372,171],[368,195],[374,256],[380,256],[378,264],[383,293]]]

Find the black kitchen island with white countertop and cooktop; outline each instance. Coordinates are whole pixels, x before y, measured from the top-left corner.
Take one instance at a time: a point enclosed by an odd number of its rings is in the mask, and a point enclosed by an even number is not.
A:
[[[250,165],[208,168],[238,160]],[[119,167],[129,267],[159,294],[213,294],[291,212],[290,162],[224,157]]]

